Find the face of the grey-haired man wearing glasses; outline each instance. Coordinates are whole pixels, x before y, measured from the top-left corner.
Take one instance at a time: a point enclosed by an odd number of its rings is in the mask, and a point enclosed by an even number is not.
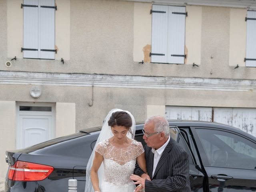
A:
[[[146,142],[146,144],[152,148],[156,148],[156,149],[159,148],[159,146],[158,146],[159,142],[160,142],[159,134],[154,134],[149,137],[146,136],[146,135],[155,133],[153,122],[148,122],[147,124],[144,124],[144,132],[145,132],[145,134],[143,136],[143,139]]]

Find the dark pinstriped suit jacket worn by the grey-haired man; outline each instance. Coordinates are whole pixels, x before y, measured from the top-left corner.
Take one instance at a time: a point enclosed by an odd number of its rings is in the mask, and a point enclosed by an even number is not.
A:
[[[145,181],[146,192],[191,192],[189,182],[189,160],[187,152],[176,141],[170,142],[164,149],[156,166],[154,175],[154,154],[152,148],[145,146],[146,167],[151,181]],[[144,172],[138,164],[134,174],[141,176]]]

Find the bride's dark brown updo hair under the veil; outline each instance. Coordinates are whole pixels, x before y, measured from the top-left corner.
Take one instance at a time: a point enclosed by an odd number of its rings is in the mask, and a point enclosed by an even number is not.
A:
[[[132,118],[130,115],[124,111],[117,111],[112,113],[108,126],[124,126],[130,131],[130,127],[132,126]]]

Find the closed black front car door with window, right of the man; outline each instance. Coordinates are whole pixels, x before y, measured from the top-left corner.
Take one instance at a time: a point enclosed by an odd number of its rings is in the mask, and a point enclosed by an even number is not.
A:
[[[256,142],[242,133],[191,128],[210,192],[256,191]]]

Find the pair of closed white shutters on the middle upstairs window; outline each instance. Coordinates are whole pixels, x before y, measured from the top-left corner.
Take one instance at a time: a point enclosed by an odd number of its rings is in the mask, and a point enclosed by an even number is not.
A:
[[[151,12],[151,62],[184,64],[186,7],[153,5]]]

